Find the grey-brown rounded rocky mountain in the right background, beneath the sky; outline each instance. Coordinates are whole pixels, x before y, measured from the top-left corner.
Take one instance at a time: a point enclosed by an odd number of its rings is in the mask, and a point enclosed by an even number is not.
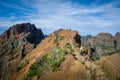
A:
[[[99,57],[116,52],[114,37],[110,33],[99,33],[97,36],[90,38],[84,45],[89,44],[95,49]]]

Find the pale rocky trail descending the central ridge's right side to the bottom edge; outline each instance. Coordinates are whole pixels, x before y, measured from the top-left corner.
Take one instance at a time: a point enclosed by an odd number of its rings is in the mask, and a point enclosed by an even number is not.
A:
[[[80,52],[74,47],[72,41],[70,41],[70,44],[74,49],[75,57],[81,62]],[[85,55],[85,58],[89,58],[88,54]],[[109,80],[102,68],[100,67],[100,61],[85,60],[85,62],[82,64],[84,65],[84,68],[86,70],[85,80]]]

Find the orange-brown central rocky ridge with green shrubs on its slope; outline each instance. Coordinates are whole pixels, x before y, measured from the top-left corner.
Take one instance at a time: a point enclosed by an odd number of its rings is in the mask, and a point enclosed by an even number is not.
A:
[[[48,35],[22,60],[28,63],[14,73],[11,80],[77,80],[85,79],[85,67],[74,57],[80,46],[77,31],[58,30]],[[79,55],[79,54],[78,54]],[[23,64],[20,63],[20,64]]]

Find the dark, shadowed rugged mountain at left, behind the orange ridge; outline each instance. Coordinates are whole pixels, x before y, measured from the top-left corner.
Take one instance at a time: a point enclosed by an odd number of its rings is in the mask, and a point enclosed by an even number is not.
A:
[[[30,23],[16,24],[5,31],[0,36],[0,79],[9,80],[20,61],[42,39],[41,29]]]

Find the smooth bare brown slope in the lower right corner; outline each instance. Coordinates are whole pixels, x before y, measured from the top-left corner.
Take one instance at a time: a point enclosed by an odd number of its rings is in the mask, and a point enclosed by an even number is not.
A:
[[[109,73],[114,80],[120,80],[120,54],[105,56],[100,59],[104,71]]]

